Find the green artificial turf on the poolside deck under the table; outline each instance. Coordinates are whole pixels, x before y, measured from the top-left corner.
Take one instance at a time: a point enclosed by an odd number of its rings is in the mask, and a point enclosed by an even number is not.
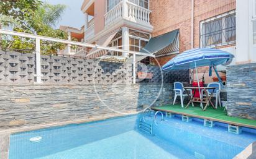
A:
[[[249,126],[256,127],[256,120],[252,119],[242,119],[238,117],[232,117],[227,116],[226,113],[223,112],[224,108],[217,108],[217,110],[214,110],[213,107],[208,106],[206,111],[203,111],[199,106],[189,106],[188,108],[182,108],[181,105],[165,105],[165,106],[158,106],[155,107],[157,109],[160,109],[162,111],[173,111],[173,113],[186,113],[196,116],[202,116],[206,118],[214,118],[219,119],[222,121],[229,121],[229,122],[236,122],[239,124],[247,124]]]

